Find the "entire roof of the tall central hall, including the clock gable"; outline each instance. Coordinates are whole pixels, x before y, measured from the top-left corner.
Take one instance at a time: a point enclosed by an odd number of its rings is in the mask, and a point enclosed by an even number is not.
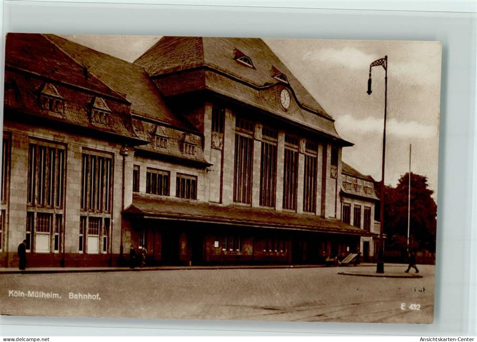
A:
[[[238,51],[252,60],[253,68],[234,59]],[[341,140],[344,145],[352,145],[341,139],[332,117],[261,39],[163,37],[135,63],[143,66],[153,78],[156,77],[159,88],[161,79],[189,71],[191,86],[184,91],[193,91],[192,84],[195,84],[196,90],[211,90],[329,135]],[[205,68],[206,72],[193,73],[200,68]],[[288,84],[274,77],[278,71],[285,75]],[[172,80],[164,88],[172,88],[170,94],[173,95],[177,93],[177,82],[184,81]],[[290,106],[286,113],[277,100],[279,96],[276,96],[276,89],[280,93],[283,87],[291,90],[298,104]],[[270,96],[274,101],[270,101]]]

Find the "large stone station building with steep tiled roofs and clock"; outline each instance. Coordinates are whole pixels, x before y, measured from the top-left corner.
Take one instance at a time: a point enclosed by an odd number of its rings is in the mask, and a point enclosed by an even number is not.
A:
[[[260,39],[163,37],[129,63],[9,34],[5,64],[1,266],[23,239],[29,267],[131,245],[149,264],[373,256],[372,178]]]

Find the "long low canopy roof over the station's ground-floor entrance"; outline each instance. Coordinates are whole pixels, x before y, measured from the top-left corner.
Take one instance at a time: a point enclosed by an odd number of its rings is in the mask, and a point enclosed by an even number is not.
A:
[[[183,201],[179,199],[133,196],[133,204],[125,213],[148,218],[168,218],[223,225],[257,228],[307,230],[323,233],[368,236],[371,233],[340,220],[317,215],[297,214],[272,209]]]

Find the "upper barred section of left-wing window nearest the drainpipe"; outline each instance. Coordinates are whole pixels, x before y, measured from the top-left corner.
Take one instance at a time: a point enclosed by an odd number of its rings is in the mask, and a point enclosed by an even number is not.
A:
[[[111,157],[83,153],[81,172],[81,209],[95,212],[111,211]]]

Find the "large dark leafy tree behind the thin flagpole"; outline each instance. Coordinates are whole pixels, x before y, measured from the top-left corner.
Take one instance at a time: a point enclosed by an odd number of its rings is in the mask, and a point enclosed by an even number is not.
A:
[[[390,238],[388,247],[406,247],[408,182],[409,173],[406,173],[395,188],[384,189],[384,233]],[[436,250],[437,205],[433,193],[426,176],[411,173],[410,245],[431,252]]]

